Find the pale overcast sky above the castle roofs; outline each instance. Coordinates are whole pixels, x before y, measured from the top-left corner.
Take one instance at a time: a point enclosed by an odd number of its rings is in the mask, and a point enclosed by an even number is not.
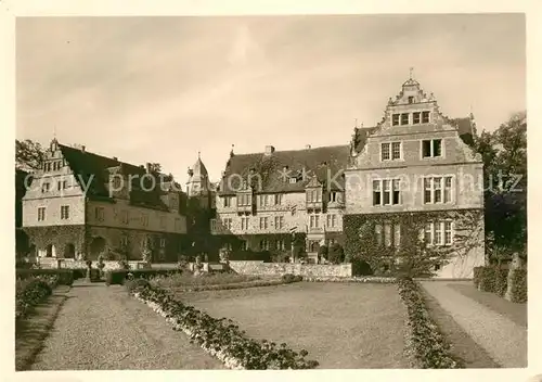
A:
[[[217,180],[236,153],[347,144],[414,67],[450,117],[526,109],[522,15],[17,18],[18,139]]]

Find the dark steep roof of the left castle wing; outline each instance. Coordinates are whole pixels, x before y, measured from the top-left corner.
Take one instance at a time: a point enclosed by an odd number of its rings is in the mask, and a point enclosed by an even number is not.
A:
[[[118,169],[125,175],[138,175],[138,178],[132,179],[132,188],[130,192],[130,202],[140,204],[146,207],[166,209],[167,206],[160,200],[163,191],[159,187],[159,174],[153,174],[156,179],[156,187],[152,190],[141,190],[141,177],[146,174],[143,166],[136,166],[129,163],[119,162],[116,158],[111,158],[98,155],[80,149],[59,144],[61,152],[67,164],[76,175],[79,182],[90,186],[87,195],[90,198],[109,198],[107,191],[109,169]],[[163,176],[164,181],[170,181],[170,176]],[[151,181],[151,179],[149,179]]]

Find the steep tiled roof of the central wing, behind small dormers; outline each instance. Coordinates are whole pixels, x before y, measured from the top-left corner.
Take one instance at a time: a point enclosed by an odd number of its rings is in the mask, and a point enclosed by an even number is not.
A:
[[[348,165],[349,151],[349,145],[334,145],[306,150],[274,151],[271,154],[233,155],[227,164],[219,193],[235,193],[236,190],[241,189],[242,179],[246,180],[250,175],[250,170],[253,170],[253,180],[256,179],[256,183],[258,180],[257,175],[261,177],[261,189],[256,188],[256,192],[304,191],[313,176],[324,184],[327,183],[328,179],[334,179],[341,186],[344,183],[341,174]],[[296,177],[299,180],[292,183],[289,177]],[[332,188],[337,188],[334,182],[330,181],[330,183]]]

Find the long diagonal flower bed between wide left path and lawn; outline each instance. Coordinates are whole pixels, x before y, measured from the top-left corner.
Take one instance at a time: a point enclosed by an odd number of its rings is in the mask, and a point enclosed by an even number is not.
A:
[[[284,343],[276,346],[264,340],[249,339],[232,320],[212,318],[142,280],[128,286],[130,293],[166,318],[175,330],[182,330],[191,342],[197,343],[230,369],[312,369],[319,365],[315,360],[305,359],[306,351],[297,353]]]

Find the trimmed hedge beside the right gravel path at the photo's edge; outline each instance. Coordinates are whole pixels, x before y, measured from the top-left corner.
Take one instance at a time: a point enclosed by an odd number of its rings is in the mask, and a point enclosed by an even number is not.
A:
[[[508,288],[508,269],[499,266],[476,267],[473,282],[480,291],[504,297]],[[515,269],[512,282],[511,300],[515,303],[527,302],[527,269]]]

